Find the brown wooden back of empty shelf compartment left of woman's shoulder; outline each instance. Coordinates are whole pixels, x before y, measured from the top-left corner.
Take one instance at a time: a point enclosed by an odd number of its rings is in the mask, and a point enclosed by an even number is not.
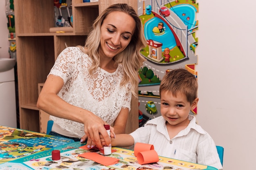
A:
[[[45,82],[54,64],[53,37],[18,37],[16,41],[19,102],[36,103],[38,83]]]

